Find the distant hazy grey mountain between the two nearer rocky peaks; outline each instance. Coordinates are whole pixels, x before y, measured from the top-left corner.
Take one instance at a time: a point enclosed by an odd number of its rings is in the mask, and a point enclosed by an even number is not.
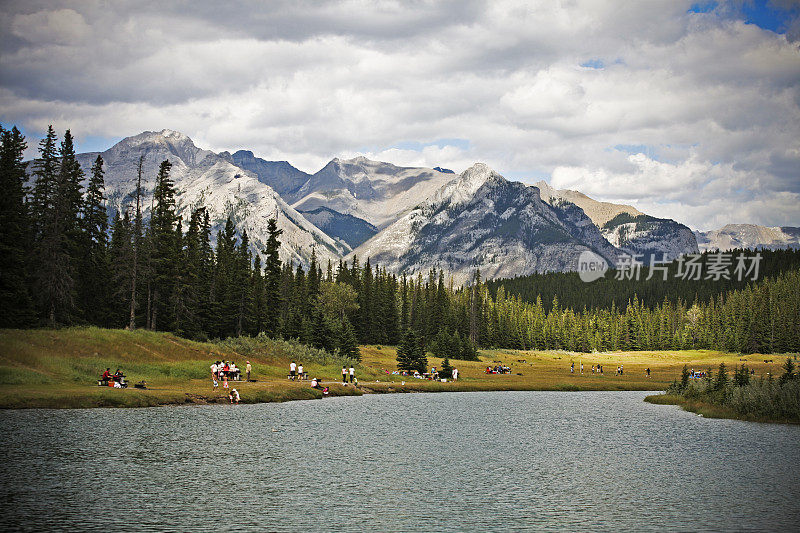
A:
[[[293,196],[300,211],[328,207],[383,228],[437,189],[452,174],[430,168],[398,167],[365,157],[333,159]]]

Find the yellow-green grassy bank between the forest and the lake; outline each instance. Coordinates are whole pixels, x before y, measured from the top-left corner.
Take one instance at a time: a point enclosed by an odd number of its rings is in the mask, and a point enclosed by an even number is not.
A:
[[[200,343],[169,333],[69,328],[62,330],[0,330],[0,408],[145,407],[167,404],[226,402],[227,393],[214,391],[209,365],[217,359],[253,365],[253,383],[233,384],[242,402],[314,399],[319,391],[307,382],[286,379],[289,362],[302,362],[311,376],[322,378],[331,395],[389,392],[489,390],[659,390],[680,376],[684,363],[696,369],[734,365],[742,357],[714,351],[610,352],[579,354],[561,351],[482,350],[480,361],[451,361],[459,369],[456,383],[436,383],[391,374],[396,351],[388,346],[362,346],[356,366],[360,387],[339,384],[346,361],[297,344],[269,339],[229,339]],[[749,356],[759,374],[778,372],[770,356]],[[575,363],[575,373],[569,371]],[[583,362],[583,374],[580,363]],[[511,374],[486,374],[487,365],[504,364]],[[442,360],[428,358],[429,366]],[[592,365],[604,367],[602,375]],[[617,366],[625,373],[616,375]],[[121,368],[133,384],[144,380],[148,390],[97,387],[105,368]],[[646,377],[645,368],[651,369]]]

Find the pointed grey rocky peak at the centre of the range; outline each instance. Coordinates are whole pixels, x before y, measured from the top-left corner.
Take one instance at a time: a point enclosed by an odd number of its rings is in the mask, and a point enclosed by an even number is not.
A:
[[[354,254],[395,272],[444,268],[464,282],[476,268],[485,278],[574,270],[585,250],[611,264],[618,254],[574,205],[554,207],[479,163]]]

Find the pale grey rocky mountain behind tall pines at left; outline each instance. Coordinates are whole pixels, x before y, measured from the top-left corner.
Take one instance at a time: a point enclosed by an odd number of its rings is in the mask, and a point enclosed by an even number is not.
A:
[[[102,156],[106,194],[116,209],[134,205],[136,168],[139,157],[144,156],[143,207],[148,217],[158,167],[168,159],[173,165],[171,177],[177,189],[179,214],[188,219],[193,207],[204,205],[214,224],[213,235],[216,236],[230,216],[238,230],[247,230],[253,250],[261,250],[266,243],[267,220],[277,217],[278,227],[283,230],[280,250],[283,260],[308,263],[314,249],[320,260],[336,261],[350,251],[349,246],[332,239],[306,220],[253,173],[236,166],[230,154],[202,150],[181,133],[144,132],[123,139],[102,152]],[[96,157],[97,153],[79,154],[87,175]]]

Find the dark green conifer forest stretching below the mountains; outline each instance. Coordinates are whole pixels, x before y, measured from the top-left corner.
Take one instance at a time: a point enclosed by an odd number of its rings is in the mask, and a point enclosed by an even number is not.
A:
[[[403,339],[453,359],[474,359],[478,347],[800,351],[797,251],[762,252],[759,281],[721,283],[607,276],[586,284],[576,274],[487,283],[476,271],[454,287],[443,270],[398,275],[369,258],[312,258],[304,268],[281,261],[274,219],[265,248],[253,254],[231,220],[213,236],[202,206],[183,218],[169,161],[160,165],[147,220],[141,165],[131,205],[109,220],[103,159],[84,176],[69,131],[59,143],[50,127],[30,169],[17,128],[0,129],[0,138],[0,327],[263,334],[351,358],[359,344]]]

